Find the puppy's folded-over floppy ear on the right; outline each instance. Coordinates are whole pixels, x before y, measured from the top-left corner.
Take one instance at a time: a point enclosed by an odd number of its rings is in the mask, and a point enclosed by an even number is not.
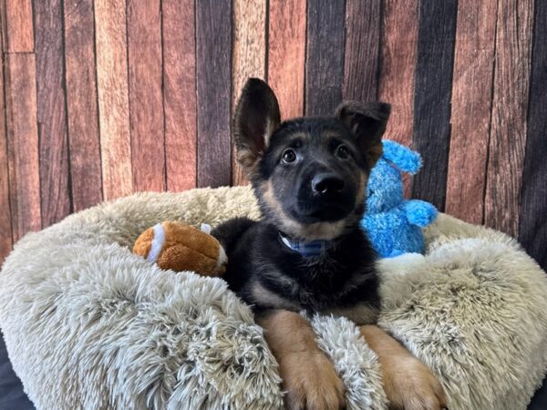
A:
[[[336,108],[340,119],[356,137],[357,147],[366,157],[370,168],[382,156],[382,135],[386,131],[391,107],[387,103],[344,102]]]

